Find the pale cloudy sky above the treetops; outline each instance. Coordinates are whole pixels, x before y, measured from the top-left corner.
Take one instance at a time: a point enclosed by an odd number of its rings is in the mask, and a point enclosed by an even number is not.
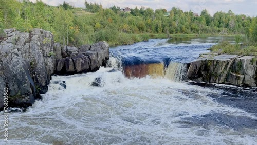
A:
[[[36,0],[31,0],[35,2]],[[63,3],[63,0],[42,0],[46,4],[57,6]],[[160,9],[165,8],[168,11],[172,7],[178,7],[183,11],[192,10],[195,13],[200,13],[201,10],[207,9],[211,15],[217,11],[232,10],[235,14],[246,14],[248,16],[257,16],[257,1],[256,0],[87,0],[88,2],[101,3],[104,8],[109,8],[113,5],[122,7]],[[67,3],[73,3],[78,7],[85,7],[85,0],[66,0]]]

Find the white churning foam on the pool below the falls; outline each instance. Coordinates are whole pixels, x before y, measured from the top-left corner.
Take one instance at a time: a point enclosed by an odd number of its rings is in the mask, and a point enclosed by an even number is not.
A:
[[[183,118],[216,112],[250,113],[208,97],[221,90],[172,82],[165,78],[124,78],[122,72],[99,71],[53,76],[49,92],[25,113],[9,115],[9,144],[254,144],[254,129],[192,125]],[[100,87],[91,86],[100,77]],[[65,81],[59,89],[54,81]],[[2,114],[1,114],[2,116]],[[186,124],[188,126],[183,126]],[[3,130],[0,130],[2,136]],[[1,143],[1,142],[0,142]],[[19,144],[18,143],[18,144]]]

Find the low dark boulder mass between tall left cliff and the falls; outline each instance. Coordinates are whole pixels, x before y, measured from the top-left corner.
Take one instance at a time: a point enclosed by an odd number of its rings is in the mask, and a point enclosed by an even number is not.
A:
[[[109,59],[109,45],[98,42],[93,45],[82,45],[79,48],[64,46],[61,49],[61,59],[56,61],[57,74],[77,74],[94,72],[101,66],[106,66]]]

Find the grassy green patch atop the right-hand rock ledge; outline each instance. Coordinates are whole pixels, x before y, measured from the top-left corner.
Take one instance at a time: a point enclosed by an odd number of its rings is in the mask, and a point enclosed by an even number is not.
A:
[[[223,41],[219,44],[212,46],[208,50],[217,52],[219,54],[257,56],[256,44],[230,44],[227,41]]]

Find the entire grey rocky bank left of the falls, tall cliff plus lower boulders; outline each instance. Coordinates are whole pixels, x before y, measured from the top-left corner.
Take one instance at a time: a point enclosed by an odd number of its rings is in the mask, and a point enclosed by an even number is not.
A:
[[[51,75],[96,71],[109,58],[106,42],[79,48],[54,43],[49,31],[4,30],[0,37],[0,108],[4,88],[8,88],[8,107],[28,107],[39,94],[47,92]]]

